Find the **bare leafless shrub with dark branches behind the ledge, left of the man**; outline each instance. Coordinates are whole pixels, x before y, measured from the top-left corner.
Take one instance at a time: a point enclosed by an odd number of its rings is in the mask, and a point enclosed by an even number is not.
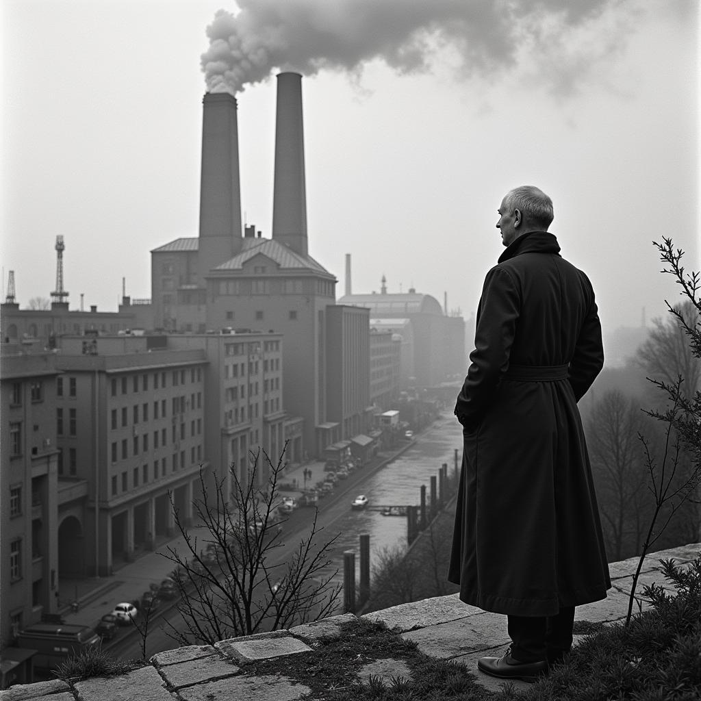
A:
[[[214,644],[290,627],[323,618],[336,608],[341,585],[334,583],[337,570],[329,559],[336,538],[317,542],[322,529],[315,515],[308,535],[292,552],[284,543],[285,521],[277,517],[284,455],[285,449],[273,464],[265,451],[251,451],[241,476],[232,465],[230,495],[226,476],[213,476],[210,494],[200,471],[203,496],[193,508],[196,522],[207,529],[204,543],[189,534],[171,496],[187,549],[179,553],[168,547],[164,554],[176,565],[178,608],[186,630],[171,625],[170,634],[179,644]]]

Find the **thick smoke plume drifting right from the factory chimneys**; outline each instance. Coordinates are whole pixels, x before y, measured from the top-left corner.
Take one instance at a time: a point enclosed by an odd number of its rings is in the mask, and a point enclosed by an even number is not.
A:
[[[469,76],[491,76],[522,60],[527,48],[552,88],[571,89],[578,74],[620,47],[611,26],[638,0],[237,0],[219,10],[202,55],[207,89],[237,93],[273,69],[304,75],[358,72],[381,59],[397,72],[425,71],[451,48]],[[618,15],[615,12],[618,11]],[[628,12],[625,15],[629,14]],[[603,39],[616,36],[616,41]],[[598,41],[601,37],[601,41]]]

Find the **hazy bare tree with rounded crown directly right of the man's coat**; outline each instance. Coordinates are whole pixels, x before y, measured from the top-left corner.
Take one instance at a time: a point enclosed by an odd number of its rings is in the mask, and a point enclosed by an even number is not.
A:
[[[608,390],[587,421],[606,550],[616,560],[640,552],[644,512],[649,512],[647,470],[639,442],[644,419],[637,400]]]

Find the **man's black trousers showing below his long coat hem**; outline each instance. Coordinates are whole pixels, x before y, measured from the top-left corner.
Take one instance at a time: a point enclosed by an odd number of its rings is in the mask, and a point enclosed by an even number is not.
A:
[[[572,647],[574,606],[561,608],[557,615],[508,617],[511,655],[519,662],[558,662]]]

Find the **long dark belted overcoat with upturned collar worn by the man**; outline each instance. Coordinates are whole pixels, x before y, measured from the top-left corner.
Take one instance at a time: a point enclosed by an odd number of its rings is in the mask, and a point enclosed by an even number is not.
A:
[[[485,611],[555,615],[611,587],[577,402],[604,364],[587,276],[552,233],[486,275],[458,395],[463,466],[449,580]]]

